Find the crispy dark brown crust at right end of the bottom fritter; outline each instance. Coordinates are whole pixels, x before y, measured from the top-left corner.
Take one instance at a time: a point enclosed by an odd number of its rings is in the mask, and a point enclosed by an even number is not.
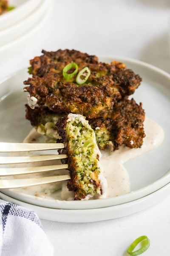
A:
[[[96,127],[106,128],[111,133],[114,150],[122,144],[129,148],[140,148],[145,137],[144,118],[142,103],[138,105],[134,99],[125,98],[115,103],[108,116],[91,119],[89,124],[94,130]]]

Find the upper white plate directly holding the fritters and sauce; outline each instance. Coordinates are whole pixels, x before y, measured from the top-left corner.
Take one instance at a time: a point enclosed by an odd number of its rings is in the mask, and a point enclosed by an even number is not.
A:
[[[54,201],[37,198],[7,190],[9,196],[20,201],[43,207],[62,209],[92,209],[111,207],[143,198],[155,192],[170,182],[170,75],[156,67],[141,61],[118,58],[102,57],[101,61],[111,62],[113,59],[127,64],[135,73],[143,78],[142,84],[134,94],[136,102],[143,102],[147,116],[159,123],[165,133],[165,140],[154,151],[144,154],[137,159],[125,163],[130,176],[131,191],[126,195],[93,201]],[[1,81],[0,96],[0,141],[22,142],[31,125],[25,120],[26,103],[23,90],[23,81],[28,74],[26,69],[21,70],[10,78]],[[18,133],[20,131],[20,133]]]

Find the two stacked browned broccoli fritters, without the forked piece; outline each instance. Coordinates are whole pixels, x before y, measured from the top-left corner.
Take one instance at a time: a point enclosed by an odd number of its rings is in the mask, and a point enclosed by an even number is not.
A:
[[[96,56],[75,50],[42,53],[30,61],[29,73],[33,76],[24,81],[28,85],[24,90],[38,104],[34,109],[26,105],[26,118],[31,125],[56,139],[57,119],[68,113],[81,114],[94,129],[100,149],[117,149],[122,144],[141,147],[145,137],[144,110],[141,103],[128,99],[142,81],[139,75],[123,63],[99,62]],[[84,67],[91,71],[84,84],[77,84],[77,74],[69,81],[63,77],[64,67],[71,62],[78,65],[78,72]]]

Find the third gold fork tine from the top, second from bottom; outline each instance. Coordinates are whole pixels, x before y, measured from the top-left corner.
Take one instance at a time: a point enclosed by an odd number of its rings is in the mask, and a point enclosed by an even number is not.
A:
[[[55,170],[61,170],[61,169],[67,169],[67,168],[68,168],[68,164],[36,166],[36,167],[0,168],[0,176],[48,172],[48,171],[55,171]]]

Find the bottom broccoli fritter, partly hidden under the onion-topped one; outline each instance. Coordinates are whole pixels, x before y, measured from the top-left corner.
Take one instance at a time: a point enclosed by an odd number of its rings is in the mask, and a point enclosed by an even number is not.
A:
[[[57,114],[47,107],[36,107],[34,110],[26,105],[26,118],[40,134],[58,138],[55,123],[65,113]],[[89,119],[89,124],[96,134],[99,149],[112,147],[118,149],[124,144],[130,148],[142,146],[144,134],[144,110],[134,99],[123,99],[117,102],[113,111],[107,116]],[[133,144],[131,144],[133,141]]]

